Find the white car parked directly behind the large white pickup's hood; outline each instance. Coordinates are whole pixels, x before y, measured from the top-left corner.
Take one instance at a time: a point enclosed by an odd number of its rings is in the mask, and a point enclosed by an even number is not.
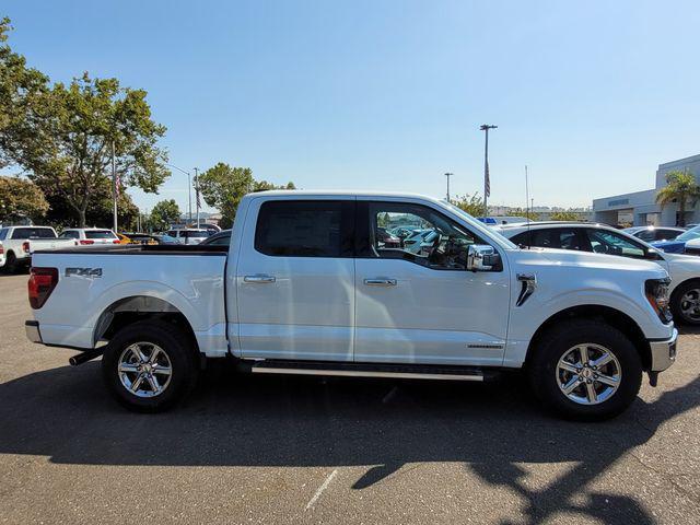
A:
[[[626,231],[604,224],[532,222],[502,226],[515,244],[573,249],[651,260],[670,276],[670,310],[680,323],[700,325],[700,257],[664,253]]]

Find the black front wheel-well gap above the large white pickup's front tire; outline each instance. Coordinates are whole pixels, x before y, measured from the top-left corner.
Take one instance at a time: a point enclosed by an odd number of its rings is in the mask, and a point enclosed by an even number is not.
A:
[[[578,305],[564,308],[548,317],[535,331],[535,335],[529,341],[527,347],[527,353],[525,357],[525,365],[528,364],[530,357],[537,349],[539,340],[547,334],[547,331],[564,319],[597,319],[607,325],[610,325],[622,334],[625,334],[634,345],[634,348],[640,354],[642,360],[643,370],[650,370],[652,363],[651,347],[644,332],[637,324],[637,322],[627,315],[625,312],[616,310],[611,306],[604,306],[599,304],[586,304]]]

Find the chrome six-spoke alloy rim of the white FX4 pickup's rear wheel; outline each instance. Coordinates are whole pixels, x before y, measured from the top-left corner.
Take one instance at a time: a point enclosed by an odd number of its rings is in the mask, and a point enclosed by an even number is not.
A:
[[[167,353],[152,342],[135,342],[117,362],[121,385],[138,397],[154,397],[171,383],[173,366]]]

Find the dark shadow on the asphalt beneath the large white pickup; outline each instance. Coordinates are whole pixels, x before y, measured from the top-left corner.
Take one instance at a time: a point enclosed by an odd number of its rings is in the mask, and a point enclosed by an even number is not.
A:
[[[0,453],[88,465],[374,465],[353,489],[407,463],[463,462],[520,493],[528,523],[572,510],[603,523],[643,524],[654,520],[634,498],[592,493],[586,485],[700,404],[699,378],[591,424],[540,412],[517,375],[469,385],[209,372],[202,383],[185,406],[145,416],[112,401],[98,363],[20,377],[0,385]],[[518,464],[562,462],[576,466],[541,490],[524,485]],[[574,504],[582,493],[587,503]]]

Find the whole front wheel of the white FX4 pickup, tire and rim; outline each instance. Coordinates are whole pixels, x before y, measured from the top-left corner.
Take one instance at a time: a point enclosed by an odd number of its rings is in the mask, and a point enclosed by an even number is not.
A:
[[[528,362],[533,390],[565,418],[592,421],[618,416],[642,384],[637,349],[605,323],[562,322],[545,332],[533,351]]]

